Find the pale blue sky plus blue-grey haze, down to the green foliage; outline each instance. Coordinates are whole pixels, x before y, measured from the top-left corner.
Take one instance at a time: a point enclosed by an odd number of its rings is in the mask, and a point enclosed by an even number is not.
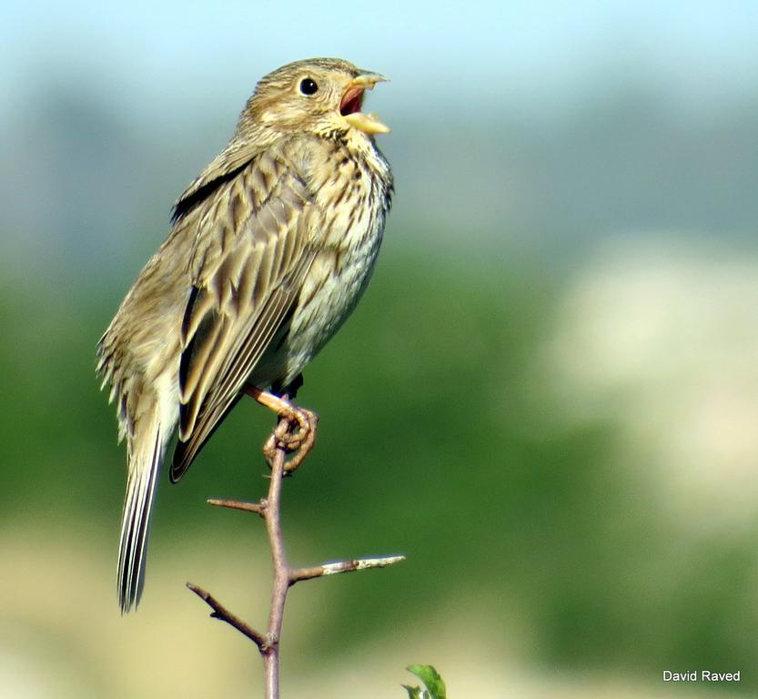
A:
[[[0,211],[10,256],[145,258],[258,78],[308,56],[391,78],[368,108],[393,127],[403,243],[560,257],[758,220],[756,3],[74,0],[4,19],[0,185],[39,187]]]

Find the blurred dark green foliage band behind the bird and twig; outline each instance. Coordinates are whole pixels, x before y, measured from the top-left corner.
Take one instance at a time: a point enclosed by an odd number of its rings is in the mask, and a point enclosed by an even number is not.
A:
[[[621,465],[620,426],[561,427],[542,398],[531,367],[561,277],[497,256],[460,264],[390,235],[355,317],[306,372],[298,399],[321,415],[318,448],[286,484],[284,520],[298,563],[409,560],[330,582],[334,608],[298,662],[367,646],[463,593],[503,632],[517,620],[538,664],[648,677],[752,667],[758,635],[743,608],[754,534],[672,532],[650,483]],[[6,536],[28,518],[53,528],[84,519],[115,554],[125,455],[93,371],[125,290],[49,279],[35,279],[34,295],[3,290],[14,329],[0,345]],[[259,449],[271,426],[243,401],[185,480],[162,479],[153,537],[192,537],[200,550],[223,547],[234,528],[252,537],[253,525],[203,501],[263,493]],[[263,566],[262,542],[258,555]],[[367,609],[379,613],[356,624]],[[744,686],[758,683],[745,673]]]

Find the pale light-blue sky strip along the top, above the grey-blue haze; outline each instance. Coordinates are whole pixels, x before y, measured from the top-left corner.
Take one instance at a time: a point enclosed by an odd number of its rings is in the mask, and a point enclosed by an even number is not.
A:
[[[76,76],[114,106],[170,122],[177,110],[239,104],[258,76],[306,56],[344,56],[391,76],[387,100],[429,107],[564,109],[622,76],[708,106],[758,84],[753,2],[388,0],[15,3],[0,26],[0,114],[45,80]],[[114,89],[116,87],[116,89]],[[219,106],[219,109],[222,108]],[[204,110],[206,107],[204,106]],[[132,116],[132,115],[130,115]],[[144,118],[144,117],[143,117]]]

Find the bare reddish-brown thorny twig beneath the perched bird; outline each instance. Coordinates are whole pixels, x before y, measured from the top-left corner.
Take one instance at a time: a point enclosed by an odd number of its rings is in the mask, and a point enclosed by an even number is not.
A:
[[[384,568],[392,563],[405,560],[405,556],[388,556],[384,558],[366,558],[324,563],[309,568],[292,568],[289,566],[280,523],[282,481],[285,476],[290,475],[294,471],[294,468],[288,468],[290,464],[299,465],[312,449],[316,436],[316,421],[312,420],[308,422],[308,429],[312,431],[312,434],[308,435],[307,439],[301,441],[301,446],[296,456],[291,461],[286,461],[288,447],[287,442],[283,438],[291,433],[290,431],[293,427],[295,425],[290,420],[281,418],[264,447],[264,453],[267,455],[271,466],[268,497],[262,498],[258,502],[208,500],[208,504],[216,507],[255,512],[266,522],[274,568],[271,611],[268,615],[266,633],[259,633],[236,614],[227,610],[212,594],[207,593],[201,587],[191,582],[187,582],[187,587],[213,610],[210,614],[212,618],[219,619],[233,626],[239,633],[247,636],[258,646],[258,651],[263,656],[265,699],[278,699],[279,697],[279,638],[281,637],[282,623],[284,622],[284,605],[287,602],[288,590],[292,585],[303,580],[313,580],[314,578],[321,578],[325,575],[332,575],[338,572]],[[302,423],[298,425],[298,428],[302,430]],[[301,433],[300,436],[302,437]]]

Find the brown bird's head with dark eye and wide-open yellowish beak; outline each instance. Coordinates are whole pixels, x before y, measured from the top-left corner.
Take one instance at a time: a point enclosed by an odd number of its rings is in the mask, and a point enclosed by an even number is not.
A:
[[[239,127],[270,127],[318,136],[349,133],[373,136],[389,127],[361,111],[366,90],[387,80],[339,58],[311,58],[282,66],[262,78],[250,97]]]

